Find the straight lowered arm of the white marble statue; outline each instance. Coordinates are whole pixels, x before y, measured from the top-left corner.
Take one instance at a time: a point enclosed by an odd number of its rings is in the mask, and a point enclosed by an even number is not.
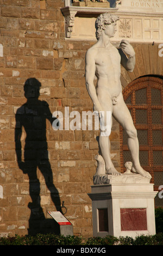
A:
[[[89,93],[91,100],[93,102],[93,109],[94,111],[102,111],[102,107],[98,101],[96,88],[93,83],[93,80],[95,78],[95,70],[96,70],[96,64],[95,64],[95,53],[93,50],[89,49],[86,52],[85,57],[85,82],[86,82],[86,89]]]

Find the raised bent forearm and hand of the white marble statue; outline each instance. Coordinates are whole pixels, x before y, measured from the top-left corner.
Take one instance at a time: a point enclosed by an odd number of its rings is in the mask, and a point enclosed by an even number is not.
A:
[[[133,72],[135,68],[135,51],[127,40],[122,40],[118,51],[121,55],[121,64],[127,71]]]

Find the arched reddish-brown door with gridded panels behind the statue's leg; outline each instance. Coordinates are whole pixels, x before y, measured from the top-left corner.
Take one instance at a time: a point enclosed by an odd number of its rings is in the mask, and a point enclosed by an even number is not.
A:
[[[151,173],[154,189],[163,185],[163,124],[162,101],[163,80],[157,77],[141,77],[134,80],[123,90],[124,101],[127,103],[137,130],[140,147],[141,166]],[[132,161],[127,146],[126,131],[120,126],[121,170],[124,163]],[[156,206],[163,206],[163,200],[155,198]]]

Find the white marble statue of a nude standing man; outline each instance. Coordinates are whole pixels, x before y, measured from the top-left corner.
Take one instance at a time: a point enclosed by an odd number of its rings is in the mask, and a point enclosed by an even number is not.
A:
[[[127,71],[134,70],[135,51],[127,40],[122,40],[116,47],[110,42],[110,38],[114,37],[117,30],[117,20],[116,15],[108,13],[97,17],[95,24],[97,42],[87,50],[85,58],[86,88],[93,102],[93,110],[98,112],[104,123],[106,124],[106,112],[111,111],[112,116],[126,130],[128,147],[133,159],[132,171],[151,178],[151,175],[140,165],[137,131],[123,100],[120,81],[121,64]],[[96,88],[93,83],[95,75],[97,77]],[[105,162],[105,174],[121,175],[111,161],[109,135],[102,136],[102,131],[99,136],[99,147]]]

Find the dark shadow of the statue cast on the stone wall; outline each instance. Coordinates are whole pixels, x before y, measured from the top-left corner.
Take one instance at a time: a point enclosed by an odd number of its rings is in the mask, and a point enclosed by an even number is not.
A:
[[[59,192],[53,184],[53,173],[48,159],[46,139],[46,119],[52,124],[56,118],[52,117],[48,103],[39,100],[40,87],[41,83],[36,78],[28,78],[26,80],[24,96],[27,98],[27,102],[17,109],[15,115],[17,163],[23,173],[28,174],[29,177],[29,194],[32,202],[28,204],[28,208],[31,211],[28,234],[32,235],[34,233],[46,233],[46,229],[49,231],[48,227],[54,224],[54,220],[45,218],[41,208],[40,181],[37,178],[37,168],[39,168],[45,179],[56,210],[61,211]],[[21,143],[22,129],[26,133],[24,149]],[[22,154],[23,151],[24,154]]]

